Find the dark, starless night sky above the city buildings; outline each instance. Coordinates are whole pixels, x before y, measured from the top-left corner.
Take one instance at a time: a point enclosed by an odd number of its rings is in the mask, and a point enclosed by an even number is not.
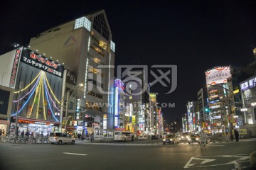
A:
[[[186,103],[205,86],[206,69],[252,62],[256,1],[1,1],[0,55],[18,42],[87,13],[105,9],[116,44],[115,64],[177,65],[176,91],[155,84],[167,120],[186,113]],[[164,70],[166,72],[166,70]],[[153,81],[154,77],[149,77]],[[166,82],[166,81],[165,81]]]

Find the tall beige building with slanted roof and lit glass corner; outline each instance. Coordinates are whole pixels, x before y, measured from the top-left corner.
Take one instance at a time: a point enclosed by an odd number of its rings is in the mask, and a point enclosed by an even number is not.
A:
[[[104,10],[76,18],[31,38],[29,46],[58,61],[77,75],[83,87],[76,94],[75,108],[82,111],[75,120],[87,132],[87,120],[92,128],[113,129],[113,109],[109,107],[113,93],[115,44]],[[68,86],[66,85],[65,91]],[[113,92],[113,91],[111,91]],[[107,104],[104,104],[107,103]],[[73,111],[68,111],[73,115]],[[104,118],[103,118],[104,117]]]

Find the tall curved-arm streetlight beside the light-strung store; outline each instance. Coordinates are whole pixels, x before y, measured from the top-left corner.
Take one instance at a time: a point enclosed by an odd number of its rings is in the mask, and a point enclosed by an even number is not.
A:
[[[61,99],[60,101],[60,107],[63,108],[63,101],[65,99],[65,97],[67,96],[67,102],[66,102],[66,105],[65,105],[65,129],[64,129],[64,132],[67,132],[67,123],[68,123],[68,103],[69,103],[69,100],[70,100],[70,91],[73,91],[73,93],[71,94],[71,96],[73,96],[75,94],[75,91],[78,89],[79,86],[83,86],[83,84],[78,84],[76,86],[73,86],[73,88],[69,89],[65,95],[63,96],[63,98]],[[60,116],[63,115],[63,109],[61,109],[60,111]],[[61,118],[62,120],[62,118]],[[62,128],[62,122],[60,122],[60,128]]]

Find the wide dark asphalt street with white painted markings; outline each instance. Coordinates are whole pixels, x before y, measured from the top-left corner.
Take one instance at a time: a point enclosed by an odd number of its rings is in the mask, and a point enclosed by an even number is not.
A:
[[[75,145],[0,144],[0,169],[233,169],[235,159],[248,159],[256,139],[163,145],[161,140],[78,142]]]

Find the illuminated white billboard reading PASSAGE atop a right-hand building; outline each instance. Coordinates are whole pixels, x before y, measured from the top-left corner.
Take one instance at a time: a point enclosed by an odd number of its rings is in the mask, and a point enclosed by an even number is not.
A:
[[[227,79],[231,76],[230,67],[215,67],[206,71],[206,84],[214,85],[227,83]]]

